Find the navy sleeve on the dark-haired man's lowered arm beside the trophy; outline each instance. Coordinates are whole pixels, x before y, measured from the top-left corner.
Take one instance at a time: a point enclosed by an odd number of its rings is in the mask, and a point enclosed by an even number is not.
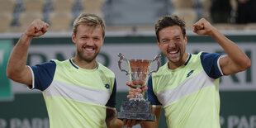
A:
[[[147,91],[147,98],[148,101],[151,102],[152,105],[162,105],[158,98],[154,95],[154,91],[153,91],[153,85],[152,85],[152,76],[149,76],[149,80],[148,80],[148,91]]]

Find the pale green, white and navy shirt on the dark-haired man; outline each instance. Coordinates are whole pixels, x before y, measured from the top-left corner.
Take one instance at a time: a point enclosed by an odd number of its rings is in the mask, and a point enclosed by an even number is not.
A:
[[[189,54],[178,69],[164,64],[148,82],[148,100],[164,107],[169,128],[219,128],[220,54]]]

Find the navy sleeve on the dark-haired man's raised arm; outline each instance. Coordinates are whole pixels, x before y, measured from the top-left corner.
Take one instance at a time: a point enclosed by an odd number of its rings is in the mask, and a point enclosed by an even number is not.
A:
[[[223,75],[219,64],[220,56],[217,53],[201,53],[201,65],[210,78],[220,78]]]

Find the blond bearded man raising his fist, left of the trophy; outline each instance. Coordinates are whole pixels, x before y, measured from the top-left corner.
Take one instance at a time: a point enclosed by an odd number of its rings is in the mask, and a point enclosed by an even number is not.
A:
[[[43,92],[52,128],[122,127],[116,119],[115,74],[96,61],[104,41],[104,21],[82,13],[73,22],[77,49],[72,59],[27,66],[31,40],[44,35],[48,27],[39,19],[28,26],[12,50],[7,77]]]

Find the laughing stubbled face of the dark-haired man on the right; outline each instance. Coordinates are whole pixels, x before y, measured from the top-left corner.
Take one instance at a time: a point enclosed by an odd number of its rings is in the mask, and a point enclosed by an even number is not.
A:
[[[187,59],[187,55],[185,55],[187,36],[183,36],[181,27],[168,26],[160,30],[158,45],[168,58],[169,65],[178,67],[185,63]]]

